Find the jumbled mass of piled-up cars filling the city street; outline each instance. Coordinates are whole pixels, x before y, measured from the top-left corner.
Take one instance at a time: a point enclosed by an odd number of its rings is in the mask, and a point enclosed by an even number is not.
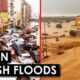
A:
[[[22,28],[9,28],[0,36],[0,50],[10,50],[12,63],[39,63],[37,44],[38,25],[24,31]]]

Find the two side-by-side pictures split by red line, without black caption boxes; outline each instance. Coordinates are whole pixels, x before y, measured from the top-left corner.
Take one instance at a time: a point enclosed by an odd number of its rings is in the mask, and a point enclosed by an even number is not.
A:
[[[80,79],[79,0],[0,0],[0,50],[10,64],[60,64],[60,77],[0,77],[0,80]],[[76,75],[75,75],[76,73]]]

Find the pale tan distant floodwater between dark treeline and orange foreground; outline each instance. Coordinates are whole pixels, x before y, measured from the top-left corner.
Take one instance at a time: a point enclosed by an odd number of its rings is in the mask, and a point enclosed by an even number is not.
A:
[[[50,24],[48,24],[46,22],[45,23],[46,33],[51,36],[61,36],[61,35],[69,36],[69,31],[73,29],[74,27],[73,25],[75,24],[75,22],[74,21],[68,22],[68,23],[64,22],[62,23],[62,28],[56,28],[56,24],[58,23],[50,22]],[[43,22],[42,22],[42,32],[44,33],[44,23]]]

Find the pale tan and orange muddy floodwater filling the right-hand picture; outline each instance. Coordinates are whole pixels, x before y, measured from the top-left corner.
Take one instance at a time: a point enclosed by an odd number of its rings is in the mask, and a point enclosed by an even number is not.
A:
[[[62,23],[62,28],[56,28],[56,23],[46,23],[46,33],[48,34],[47,55],[42,59],[43,64],[60,64],[60,77],[43,77],[42,80],[79,80],[80,79],[80,36],[72,37],[69,31],[74,28],[75,22]],[[42,23],[44,32],[44,24]],[[54,37],[55,36],[55,37]],[[59,40],[56,41],[56,36]],[[75,74],[76,72],[76,74]],[[73,76],[74,75],[74,76]],[[76,76],[75,76],[76,75]]]

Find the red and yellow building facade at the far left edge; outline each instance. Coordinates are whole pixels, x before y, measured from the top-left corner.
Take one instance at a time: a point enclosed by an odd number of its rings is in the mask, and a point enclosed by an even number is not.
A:
[[[8,26],[8,0],[0,0],[0,34]]]

